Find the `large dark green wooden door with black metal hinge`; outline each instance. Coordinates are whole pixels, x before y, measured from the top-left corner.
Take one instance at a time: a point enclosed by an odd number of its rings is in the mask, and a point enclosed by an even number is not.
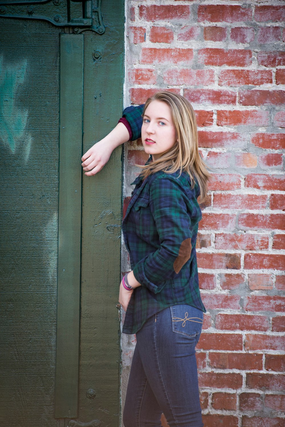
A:
[[[123,0],[0,15],[0,427],[115,427],[121,149],[80,159],[122,112]]]

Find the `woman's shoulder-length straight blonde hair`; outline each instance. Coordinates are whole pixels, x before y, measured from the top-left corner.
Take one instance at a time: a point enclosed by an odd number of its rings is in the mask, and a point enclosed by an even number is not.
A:
[[[140,166],[143,169],[142,175],[146,178],[159,170],[165,173],[174,173],[179,170],[181,175],[182,171],[185,171],[190,176],[192,188],[196,178],[201,191],[199,202],[203,203],[207,197],[207,181],[210,173],[198,151],[197,124],[192,105],[180,95],[161,91],[147,99],[142,115],[152,101],[165,102],[169,106],[178,142],[157,160]]]

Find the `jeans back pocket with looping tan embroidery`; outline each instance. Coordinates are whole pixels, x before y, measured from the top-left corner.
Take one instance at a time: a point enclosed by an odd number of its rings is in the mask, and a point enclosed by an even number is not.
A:
[[[203,311],[192,305],[179,304],[170,307],[172,330],[181,335],[200,335],[203,325]]]

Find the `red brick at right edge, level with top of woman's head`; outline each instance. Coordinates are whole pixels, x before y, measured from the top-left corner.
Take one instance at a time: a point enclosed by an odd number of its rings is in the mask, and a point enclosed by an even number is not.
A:
[[[285,91],[240,91],[238,103],[240,105],[282,105],[285,103]]]

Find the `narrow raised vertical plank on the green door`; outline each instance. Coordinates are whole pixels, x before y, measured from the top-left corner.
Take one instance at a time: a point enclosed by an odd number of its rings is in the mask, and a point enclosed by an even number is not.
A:
[[[82,105],[83,35],[61,34],[55,418],[78,410]]]

